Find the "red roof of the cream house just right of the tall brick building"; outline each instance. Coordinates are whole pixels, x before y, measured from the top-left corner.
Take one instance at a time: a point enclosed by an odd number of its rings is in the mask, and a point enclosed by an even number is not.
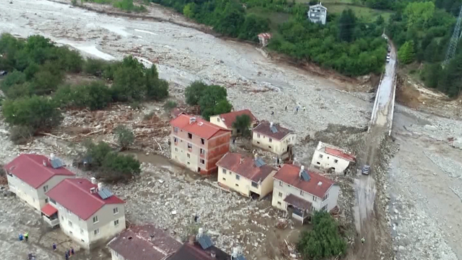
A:
[[[240,153],[226,153],[220,161],[217,161],[217,166],[231,170],[233,173],[237,173],[254,182],[263,181],[269,174],[277,170],[267,164],[257,167],[255,166],[254,158],[242,156]]]

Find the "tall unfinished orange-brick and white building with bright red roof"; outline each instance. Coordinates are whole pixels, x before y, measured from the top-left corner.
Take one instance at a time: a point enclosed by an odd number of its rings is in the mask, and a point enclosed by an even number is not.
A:
[[[179,114],[171,124],[171,159],[202,175],[230,151],[231,131],[188,114]]]

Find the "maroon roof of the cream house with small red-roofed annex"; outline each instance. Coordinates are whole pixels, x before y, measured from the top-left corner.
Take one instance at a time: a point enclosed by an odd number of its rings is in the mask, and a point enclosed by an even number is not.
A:
[[[103,200],[97,193],[90,193],[90,188],[97,188],[97,185],[82,178],[65,179],[46,195],[82,220],[88,220],[104,205],[125,203],[115,195]]]

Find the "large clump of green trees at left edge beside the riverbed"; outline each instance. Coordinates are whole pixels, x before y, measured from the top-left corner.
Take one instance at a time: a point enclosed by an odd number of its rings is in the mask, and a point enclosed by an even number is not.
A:
[[[29,128],[21,133],[36,134],[60,124],[58,108],[96,110],[111,102],[139,104],[168,97],[168,82],[159,79],[156,66],[147,69],[131,56],[120,62],[83,60],[76,51],[56,47],[42,36],[21,40],[6,33],[0,37],[0,53],[0,70],[9,71],[0,84],[7,97],[2,112],[11,126]],[[64,84],[66,74],[78,72],[102,79]],[[112,87],[104,80],[111,80]]]

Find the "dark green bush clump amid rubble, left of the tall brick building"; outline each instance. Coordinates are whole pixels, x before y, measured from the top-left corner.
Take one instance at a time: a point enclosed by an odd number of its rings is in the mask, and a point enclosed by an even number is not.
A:
[[[141,173],[141,163],[131,156],[119,155],[107,143],[86,143],[86,156],[92,158],[92,167],[97,169],[97,177],[107,182],[117,183],[129,180]]]

